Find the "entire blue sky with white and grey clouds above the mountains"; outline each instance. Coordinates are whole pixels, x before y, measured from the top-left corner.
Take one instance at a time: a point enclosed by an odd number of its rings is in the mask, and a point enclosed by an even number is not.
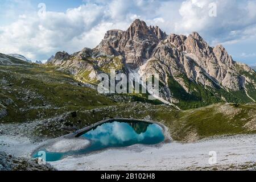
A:
[[[256,0],[0,0],[0,52],[46,60],[94,48],[107,30],[126,30],[137,18],[167,34],[197,31],[256,65]]]

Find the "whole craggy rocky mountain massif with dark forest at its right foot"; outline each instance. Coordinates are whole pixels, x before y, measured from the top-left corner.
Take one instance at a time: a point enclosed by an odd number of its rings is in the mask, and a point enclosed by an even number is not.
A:
[[[167,35],[139,19],[126,31],[106,32],[94,49],[57,52],[48,63],[94,84],[110,67],[125,74],[137,72],[143,80],[147,73],[158,73],[161,101],[181,109],[256,100],[256,73],[234,61],[223,46],[210,47],[197,32]]]

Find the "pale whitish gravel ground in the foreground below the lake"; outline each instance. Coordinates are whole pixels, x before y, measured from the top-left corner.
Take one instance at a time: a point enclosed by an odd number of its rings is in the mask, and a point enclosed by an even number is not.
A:
[[[23,137],[0,136],[0,151],[16,156],[28,156],[39,144],[42,143],[33,144]],[[210,151],[216,151],[217,164],[209,164]],[[58,170],[256,169],[256,135],[114,148],[90,155],[69,156],[51,165]]]

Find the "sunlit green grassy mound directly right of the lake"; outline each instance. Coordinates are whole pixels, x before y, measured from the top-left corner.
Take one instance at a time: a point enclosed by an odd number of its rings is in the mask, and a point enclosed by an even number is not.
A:
[[[256,105],[216,104],[182,111],[167,122],[176,140],[196,140],[214,135],[250,134],[256,132]]]

